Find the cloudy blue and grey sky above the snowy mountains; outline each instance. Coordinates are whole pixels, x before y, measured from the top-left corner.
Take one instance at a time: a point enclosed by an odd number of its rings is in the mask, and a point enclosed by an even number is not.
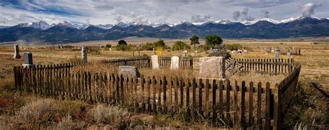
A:
[[[329,0],[0,0],[0,25],[329,18]]]

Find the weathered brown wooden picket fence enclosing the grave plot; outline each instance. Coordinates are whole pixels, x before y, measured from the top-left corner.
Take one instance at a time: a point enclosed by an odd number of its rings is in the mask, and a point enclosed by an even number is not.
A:
[[[169,67],[170,58],[159,58],[160,67]],[[15,88],[44,97],[81,99],[91,103],[125,104],[140,113],[178,113],[220,122],[223,127],[280,129],[284,112],[294,95],[301,66],[292,59],[235,59],[241,72],[287,74],[276,84],[183,79],[182,77],[97,74],[75,67],[86,64],[14,67]],[[109,66],[151,67],[149,57],[101,60]],[[88,64],[88,63],[87,63]],[[180,58],[180,67],[193,67],[192,58]],[[222,120],[222,121],[219,121]],[[223,123],[225,122],[225,124]]]

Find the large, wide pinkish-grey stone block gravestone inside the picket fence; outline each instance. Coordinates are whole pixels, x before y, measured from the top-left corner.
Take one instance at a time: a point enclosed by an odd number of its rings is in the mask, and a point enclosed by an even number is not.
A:
[[[200,78],[225,79],[225,58],[223,56],[200,58]]]

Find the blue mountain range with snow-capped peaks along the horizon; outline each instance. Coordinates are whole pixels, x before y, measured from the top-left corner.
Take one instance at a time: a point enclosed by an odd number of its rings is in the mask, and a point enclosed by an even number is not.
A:
[[[112,24],[47,24],[33,22],[15,26],[0,26],[0,42],[35,40],[50,43],[83,42],[89,40],[117,40],[130,36],[151,38],[189,38],[198,35],[217,34],[222,38],[301,38],[329,36],[329,19],[296,17],[276,21],[261,19],[254,22],[217,22],[180,24],[137,24],[119,22]]]

